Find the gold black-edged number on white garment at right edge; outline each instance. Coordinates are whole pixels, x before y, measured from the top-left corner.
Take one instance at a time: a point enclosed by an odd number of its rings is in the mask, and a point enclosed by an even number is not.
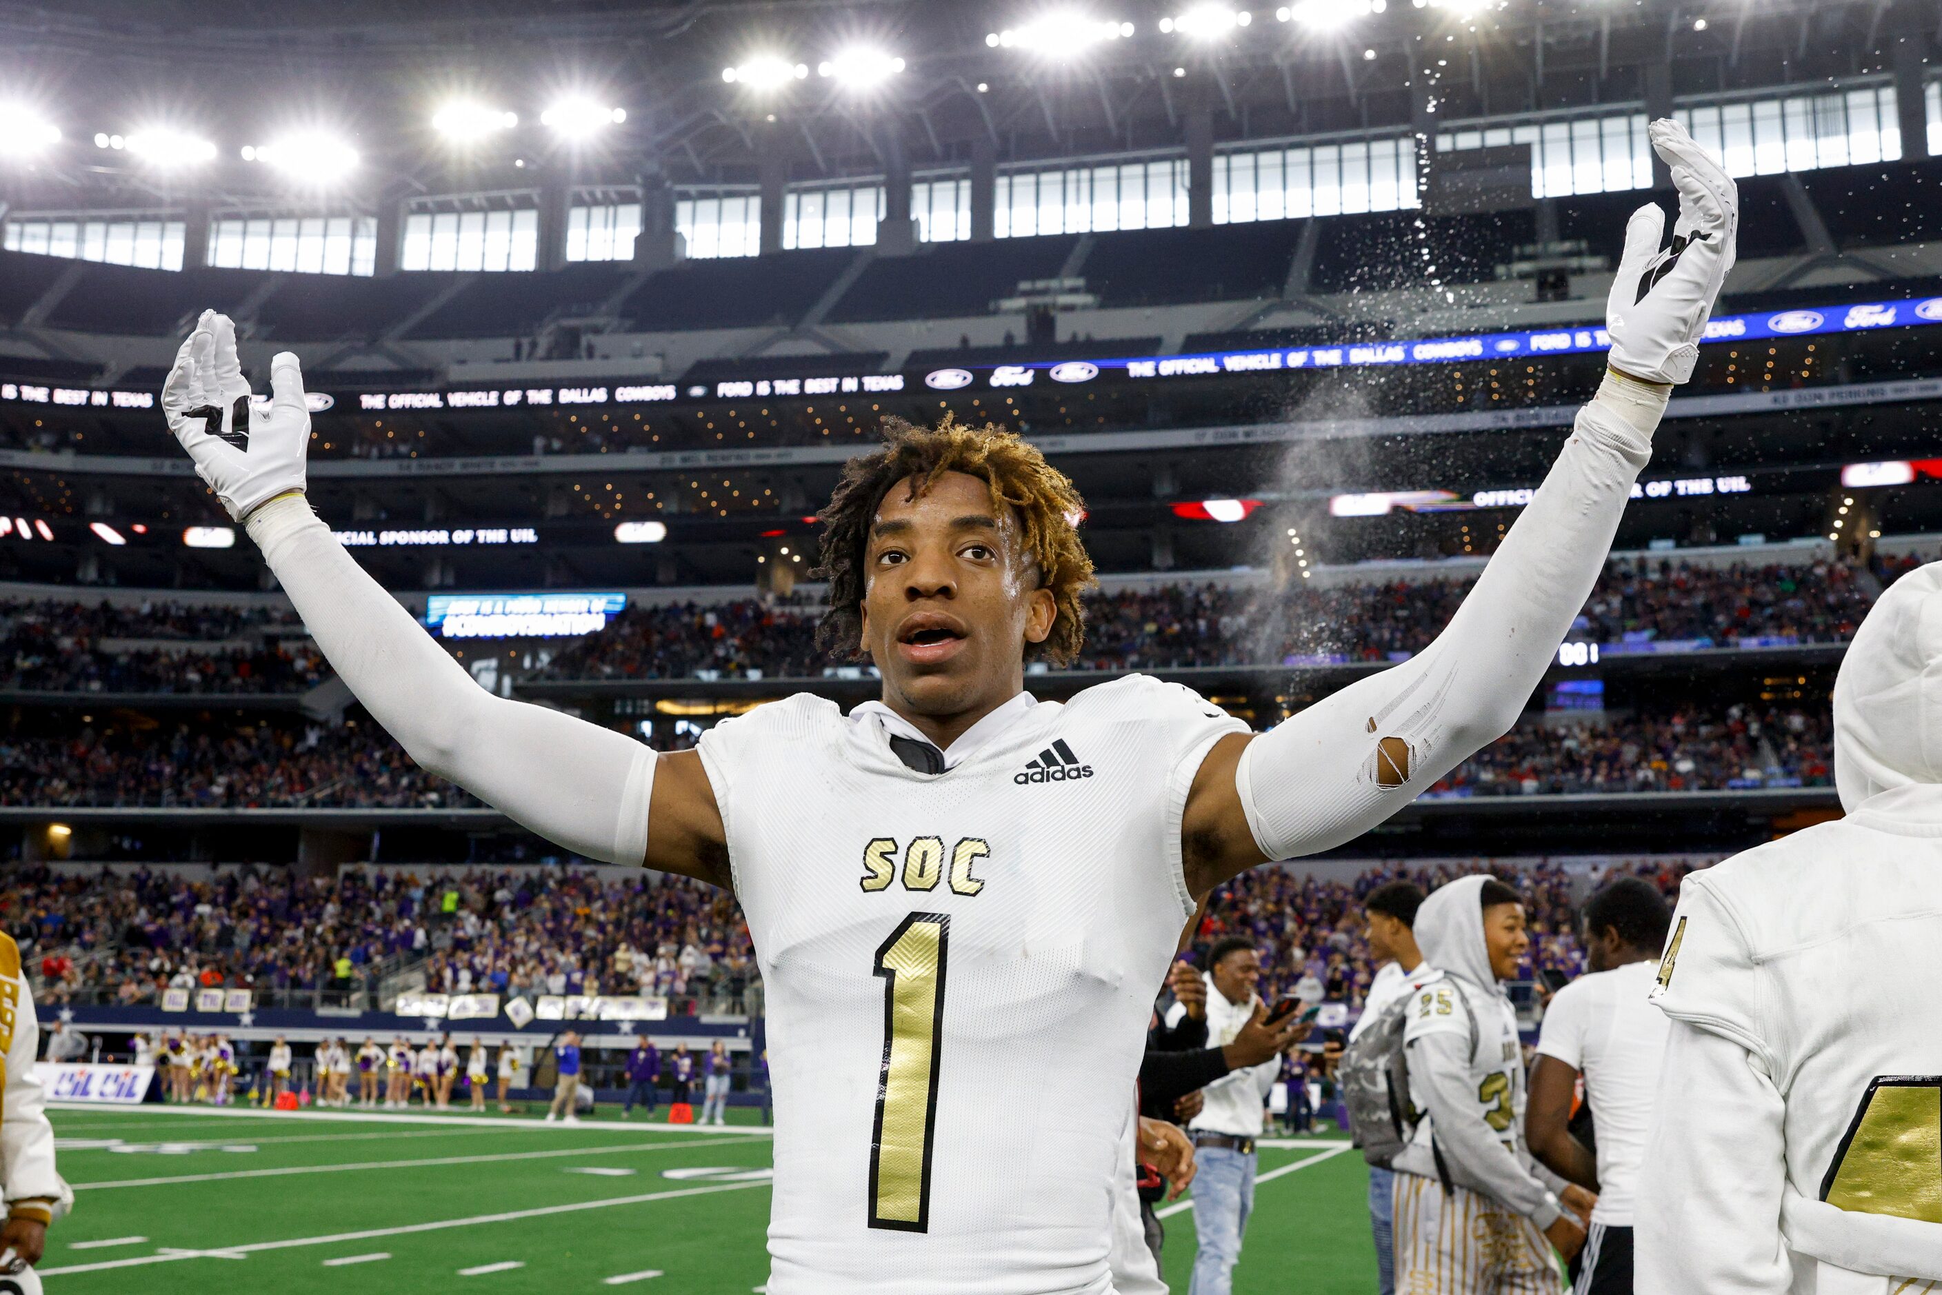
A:
[[[1876,1076],[1822,1182],[1855,1213],[1942,1223],[1942,1076]]]

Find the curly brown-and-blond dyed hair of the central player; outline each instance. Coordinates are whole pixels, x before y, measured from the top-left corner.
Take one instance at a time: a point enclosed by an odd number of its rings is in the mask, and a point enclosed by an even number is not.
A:
[[[913,481],[915,499],[946,472],[981,478],[990,491],[992,509],[1000,516],[1010,511],[1018,518],[1025,555],[1037,567],[1039,586],[1053,592],[1056,608],[1045,643],[1027,643],[1025,652],[1055,666],[1070,664],[1086,643],[1080,594],[1093,584],[1091,557],[1076,530],[1086,501],[1066,474],[1045,462],[1045,454],[1018,433],[992,423],[967,427],[950,414],[936,427],[886,417],[884,448],[843,464],[843,480],[837,481],[829,507],[816,515],[823,524],[823,542],[810,577],[829,581],[829,612],[816,627],[816,645],[841,656],[862,654],[870,522],[897,481]]]

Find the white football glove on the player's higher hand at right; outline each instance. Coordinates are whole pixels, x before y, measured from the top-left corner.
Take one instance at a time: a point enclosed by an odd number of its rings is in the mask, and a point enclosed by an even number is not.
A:
[[[1717,161],[1660,118],[1647,126],[1653,149],[1672,169],[1680,219],[1660,249],[1666,217],[1647,204],[1625,221],[1625,252],[1604,305],[1614,369],[1647,382],[1684,382],[1699,363],[1699,338],[1732,270],[1740,237],[1740,190]]]

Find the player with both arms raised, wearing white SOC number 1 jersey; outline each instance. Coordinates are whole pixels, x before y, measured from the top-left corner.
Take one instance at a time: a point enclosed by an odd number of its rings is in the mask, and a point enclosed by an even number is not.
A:
[[[1023,691],[1027,656],[1080,650],[1091,559],[1070,481],[994,427],[891,423],[821,513],[823,645],[868,656],[882,701],[790,697],[656,755],[493,697],[363,573],[303,497],[295,355],[251,410],[208,313],[163,412],[416,761],[563,848],[740,899],[769,1008],[775,1295],[1097,1295],[1152,986],[1194,899],[1361,835],[1503,734],[1598,577],[1732,260],[1732,183],[1674,122],[1651,134],[1680,237],[1658,249],[1653,206],[1627,225],[1612,367],[1546,483],[1429,648],[1262,736],[1144,676]],[[243,431],[247,450],[218,435]]]

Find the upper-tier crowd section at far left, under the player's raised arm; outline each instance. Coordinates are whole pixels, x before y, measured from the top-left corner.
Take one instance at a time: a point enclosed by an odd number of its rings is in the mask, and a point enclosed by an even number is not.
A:
[[[284,631],[287,643],[266,639]],[[328,666],[287,608],[0,600],[0,687],[62,693],[287,693]]]

